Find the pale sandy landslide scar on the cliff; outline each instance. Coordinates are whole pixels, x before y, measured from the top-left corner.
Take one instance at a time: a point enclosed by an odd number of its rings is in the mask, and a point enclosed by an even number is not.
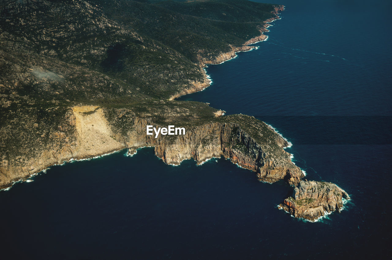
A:
[[[113,138],[113,132],[105,119],[102,108],[77,106],[72,110],[76,119],[79,158],[125,148],[123,143]]]

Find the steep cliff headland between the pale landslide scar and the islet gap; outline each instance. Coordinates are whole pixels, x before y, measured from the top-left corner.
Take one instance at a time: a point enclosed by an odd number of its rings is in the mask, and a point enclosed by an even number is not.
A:
[[[304,176],[301,169],[291,162],[290,154],[283,150],[288,145],[287,141],[265,123],[250,116],[222,116],[219,120],[202,125],[185,126],[185,135],[159,135],[154,138],[146,135],[147,125],[156,128],[162,125],[137,117],[130,119],[132,116],[127,117],[125,114],[121,115],[122,120],[125,118],[134,122],[129,132],[122,137],[126,146],[131,148],[130,153],[138,147],[155,146],[156,156],[167,164],[175,165],[191,158],[200,164],[209,158],[223,156],[243,168],[255,171],[260,181],[270,183],[284,179],[290,184],[297,184]],[[241,125],[242,121],[256,127],[250,129]],[[249,131],[268,136],[268,143],[256,141]]]

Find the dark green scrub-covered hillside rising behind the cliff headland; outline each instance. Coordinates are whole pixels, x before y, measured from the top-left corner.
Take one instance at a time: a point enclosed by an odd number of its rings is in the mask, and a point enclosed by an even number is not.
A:
[[[0,80],[33,99],[165,99],[200,59],[260,35],[273,5],[245,0],[20,0],[0,5]]]

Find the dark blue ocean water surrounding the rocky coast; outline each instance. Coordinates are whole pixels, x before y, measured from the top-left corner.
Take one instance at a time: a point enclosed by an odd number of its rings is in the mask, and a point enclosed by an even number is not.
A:
[[[4,259],[391,257],[392,2],[281,0],[258,50],[207,68],[209,102],[274,126],[308,180],[352,198],[310,223],[292,187],[223,158],[168,166],[153,148],[53,166],[0,192]]]

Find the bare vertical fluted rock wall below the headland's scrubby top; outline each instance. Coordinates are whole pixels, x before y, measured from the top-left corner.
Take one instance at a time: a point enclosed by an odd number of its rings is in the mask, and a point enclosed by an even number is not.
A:
[[[282,141],[278,134],[276,139]],[[278,146],[277,143],[275,146]],[[283,146],[280,146],[281,153],[276,156],[235,123],[210,123],[198,126],[174,141],[158,138],[149,144],[156,147],[156,155],[168,164],[178,165],[190,158],[200,164],[211,157],[223,156],[255,171],[259,181],[272,183],[286,180],[295,185],[303,177],[301,169],[292,164],[290,154],[283,150]]]

